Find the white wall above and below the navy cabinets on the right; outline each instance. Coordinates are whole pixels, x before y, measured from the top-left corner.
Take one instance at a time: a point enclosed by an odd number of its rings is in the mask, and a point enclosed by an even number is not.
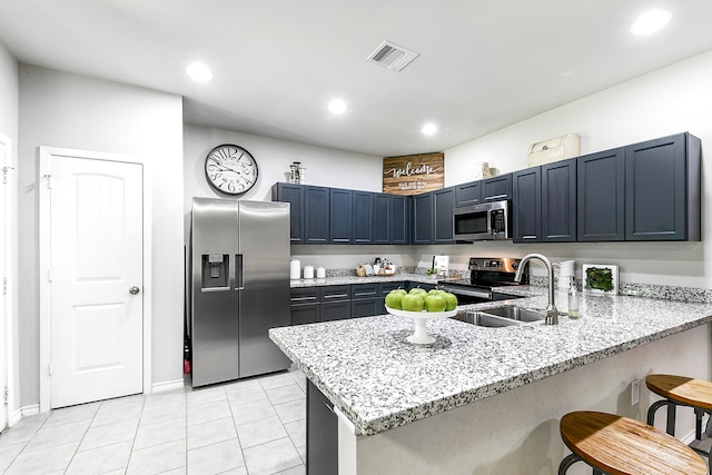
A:
[[[576,259],[578,275],[584,263],[617,264],[622,281],[712,287],[712,259],[705,261],[712,251],[712,224],[704,219],[704,209],[712,204],[705,185],[712,182],[712,167],[704,162],[705,150],[712,148],[711,83],[712,52],[706,52],[445,150],[445,185],[451,186],[462,182],[459,177],[472,177],[482,161],[502,172],[526,168],[531,144],[567,132],[581,136],[584,155],[690,131],[702,139],[702,243],[479,243],[418,249],[415,259],[425,265],[432,253],[444,253],[463,265],[467,256],[536,251],[554,260]]]

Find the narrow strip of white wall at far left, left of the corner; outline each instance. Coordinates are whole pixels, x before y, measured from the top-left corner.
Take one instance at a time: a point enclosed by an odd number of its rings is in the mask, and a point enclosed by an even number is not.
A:
[[[0,43],[0,133],[3,133],[12,141],[12,164],[17,164],[18,158],[18,62],[14,57]],[[9,172],[8,186],[10,187],[10,226],[11,229],[18,227],[18,187],[17,187],[17,169]],[[14,236],[14,234],[13,234]],[[13,368],[12,368],[12,397],[11,403],[14,407],[9,408],[10,415],[17,409],[20,400],[20,380],[19,380],[19,345],[18,342],[18,241],[11,237],[10,243],[10,306],[12,308],[9,318],[12,320],[12,331],[10,338],[13,344]]]

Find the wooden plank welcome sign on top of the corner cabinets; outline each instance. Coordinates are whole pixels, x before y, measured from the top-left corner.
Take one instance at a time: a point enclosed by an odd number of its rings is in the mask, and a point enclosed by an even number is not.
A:
[[[443,188],[445,154],[408,155],[383,159],[383,192],[417,195]]]

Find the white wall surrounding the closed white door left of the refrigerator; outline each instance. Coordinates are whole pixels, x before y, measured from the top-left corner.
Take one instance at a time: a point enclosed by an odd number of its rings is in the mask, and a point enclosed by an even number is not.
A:
[[[20,66],[19,271],[21,405],[39,402],[36,150],[141,156],[152,169],[152,379],[182,382],[182,99]],[[146,388],[149,389],[150,388]]]

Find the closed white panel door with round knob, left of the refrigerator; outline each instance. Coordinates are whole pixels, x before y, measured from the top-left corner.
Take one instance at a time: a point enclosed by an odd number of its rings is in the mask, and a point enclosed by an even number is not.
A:
[[[141,393],[142,167],[52,156],[50,407]]]

